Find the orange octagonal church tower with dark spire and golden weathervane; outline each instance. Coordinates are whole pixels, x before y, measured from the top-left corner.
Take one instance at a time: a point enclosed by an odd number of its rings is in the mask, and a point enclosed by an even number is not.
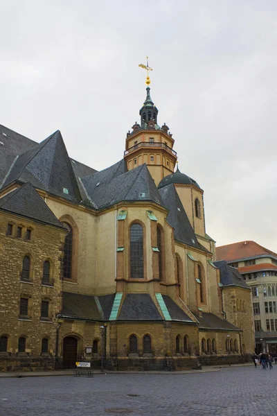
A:
[[[150,70],[145,65],[141,67]],[[147,164],[148,169],[158,185],[163,177],[174,172],[177,153],[173,150],[174,139],[169,128],[164,123],[158,124],[159,110],[150,96],[150,78],[146,78],[146,98],[139,115],[140,123],[134,123],[132,132],[127,132],[124,159],[128,171],[141,164]]]

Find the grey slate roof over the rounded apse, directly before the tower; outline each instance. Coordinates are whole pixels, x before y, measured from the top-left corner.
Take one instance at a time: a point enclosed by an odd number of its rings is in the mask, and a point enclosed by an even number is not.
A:
[[[159,191],[145,164],[132,171],[125,169],[125,162],[120,161],[105,171],[82,180],[91,202],[98,209],[120,201],[151,200],[162,204]]]

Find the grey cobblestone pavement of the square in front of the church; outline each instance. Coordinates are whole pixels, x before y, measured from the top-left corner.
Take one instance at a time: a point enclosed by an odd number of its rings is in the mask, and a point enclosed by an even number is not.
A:
[[[0,379],[0,416],[273,416],[277,365],[204,374]]]

